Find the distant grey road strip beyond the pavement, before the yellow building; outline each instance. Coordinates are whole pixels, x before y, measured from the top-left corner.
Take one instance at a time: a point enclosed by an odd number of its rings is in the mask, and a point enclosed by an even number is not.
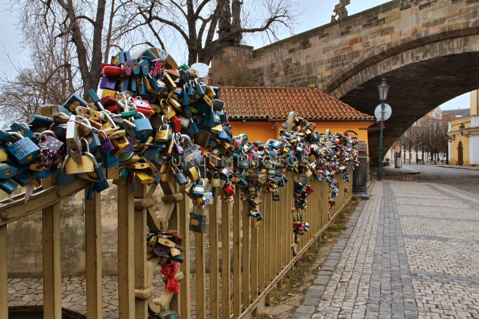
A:
[[[479,170],[439,167],[437,165],[403,164],[403,167],[418,170],[416,178],[423,182],[441,183],[479,195]]]

